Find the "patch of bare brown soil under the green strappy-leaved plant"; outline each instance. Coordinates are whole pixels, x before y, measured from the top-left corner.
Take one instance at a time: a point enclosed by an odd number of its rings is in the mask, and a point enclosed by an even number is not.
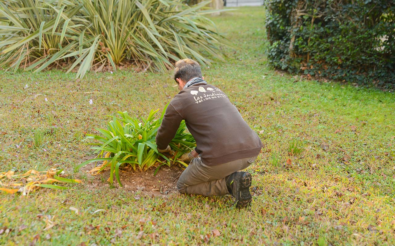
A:
[[[93,178],[88,184],[89,188],[108,187],[107,179],[110,177],[110,171],[107,170],[98,175],[92,175],[89,171],[94,166],[93,163],[90,163],[81,168],[81,172],[86,172],[88,177]],[[150,168],[145,172],[134,171],[132,168],[120,169],[119,176],[122,187],[119,186],[115,175],[113,185],[126,191],[141,191],[141,193],[149,196],[167,196],[177,193],[177,180],[183,171],[182,168],[177,165],[170,167],[161,166],[156,175],[154,175],[155,170],[156,167]]]

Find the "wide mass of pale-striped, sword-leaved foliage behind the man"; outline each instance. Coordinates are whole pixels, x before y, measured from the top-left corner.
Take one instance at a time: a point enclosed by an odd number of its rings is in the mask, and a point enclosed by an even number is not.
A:
[[[222,59],[226,43],[203,17],[210,1],[180,0],[0,0],[0,66],[40,71],[78,68],[82,78],[122,63],[167,70],[172,61],[201,52]],[[1,22],[0,22],[1,24]]]

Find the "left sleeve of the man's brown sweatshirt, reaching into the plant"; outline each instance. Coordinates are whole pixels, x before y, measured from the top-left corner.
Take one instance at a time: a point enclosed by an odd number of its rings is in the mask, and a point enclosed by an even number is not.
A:
[[[164,150],[167,145],[173,140],[177,130],[180,126],[182,117],[174,109],[171,103],[167,106],[166,113],[163,117],[162,124],[160,125],[158,132],[156,133],[156,145],[158,149]]]

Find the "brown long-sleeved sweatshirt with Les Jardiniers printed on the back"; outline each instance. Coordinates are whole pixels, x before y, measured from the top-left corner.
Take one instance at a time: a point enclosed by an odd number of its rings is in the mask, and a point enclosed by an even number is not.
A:
[[[194,84],[171,100],[155,139],[159,149],[166,149],[181,120],[195,138],[195,150],[205,165],[256,156],[262,148],[228,96],[213,85]]]

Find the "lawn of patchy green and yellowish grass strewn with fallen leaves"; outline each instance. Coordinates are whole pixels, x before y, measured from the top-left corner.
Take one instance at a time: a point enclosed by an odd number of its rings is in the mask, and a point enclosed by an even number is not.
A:
[[[239,48],[229,50],[227,63],[203,68],[203,76],[228,94],[265,145],[248,168],[254,177],[252,207],[237,211],[229,196],[136,200],[139,191],[111,189],[105,180],[92,188],[90,178],[73,174],[84,182],[70,190],[28,197],[0,193],[0,244],[196,245],[205,239],[213,245],[395,244],[394,94],[273,70],[264,53],[262,7],[212,19]],[[147,116],[177,93],[171,72],[120,70],[73,78],[57,71],[3,72],[0,172],[58,164],[72,173],[73,165],[93,152],[77,141],[77,131],[79,138],[97,134],[94,128],[105,127],[105,115],[117,111]],[[33,148],[37,128],[45,141]],[[288,155],[292,139],[303,139],[301,154]],[[103,211],[95,213],[98,209]],[[54,226],[44,230],[49,221]]]

